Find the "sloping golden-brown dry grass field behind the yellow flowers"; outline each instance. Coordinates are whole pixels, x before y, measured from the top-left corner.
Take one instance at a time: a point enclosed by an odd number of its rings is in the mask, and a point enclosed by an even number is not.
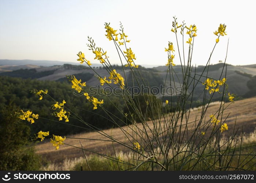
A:
[[[211,107],[208,108],[207,114],[206,114],[206,120],[209,119],[209,116],[212,113],[215,113],[218,108],[218,102],[215,102],[211,105]],[[192,112],[190,112],[189,121],[192,122],[196,119],[196,116],[200,115],[200,111],[198,109],[193,109]],[[224,112],[223,119],[225,119],[227,116],[229,117],[226,120],[226,123],[229,126],[230,130],[227,130],[223,132],[223,134],[228,135],[229,133],[232,134],[233,127],[236,121],[235,128],[238,130],[238,134],[241,133],[241,129],[243,127],[243,132],[250,133],[255,130],[256,127],[256,97],[248,98],[244,100],[235,101],[234,104],[231,104]],[[149,127],[152,127],[152,122],[148,122]],[[192,123],[193,124],[193,123]],[[193,128],[192,124],[190,124],[189,128]],[[141,124],[138,124],[140,127]],[[67,126],[68,127],[68,126]],[[123,127],[126,128],[126,127]],[[120,131],[119,128],[104,130],[105,133],[111,134],[114,138],[125,141],[125,137],[123,132]],[[57,135],[57,134],[56,134]],[[87,133],[81,133],[76,135],[71,135],[68,137],[74,137],[74,138],[89,138],[89,139],[107,139],[101,137],[101,135],[97,132],[87,132]],[[70,139],[67,138],[65,140],[66,144],[81,147],[79,139]],[[106,148],[109,152],[112,150],[112,142],[108,141],[95,141],[95,140],[85,140],[81,139],[81,143],[84,146],[85,149],[94,150],[96,152],[102,152],[106,153]],[[118,144],[115,145],[115,150],[123,151],[121,146],[118,146]],[[60,146],[59,150],[55,150],[55,147],[52,146],[52,144],[45,140],[44,143],[38,143],[36,146],[37,153],[41,154],[44,158],[46,158],[49,161],[59,163],[62,162],[64,159],[73,159],[73,158],[79,158],[83,156],[83,152],[81,149],[68,146],[68,145],[62,145]],[[86,155],[89,155],[90,153],[85,152]]]

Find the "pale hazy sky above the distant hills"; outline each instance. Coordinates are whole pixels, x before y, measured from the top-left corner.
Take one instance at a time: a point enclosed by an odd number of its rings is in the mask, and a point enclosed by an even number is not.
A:
[[[76,61],[82,51],[92,63],[99,63],[86,46],[91,36],[113,64],[120,63],[114,43],[104,36],[104,22],[119,30],[121,21],[136,64],[167,63],[168,41],[174,43],[178,64],[172,16],[179,23],[185,20],[197,26],[193,64],[207,62],[220,23],[227,25],[227,36],[220,37],[211,63],[225,59],[229,38],[227,63],[256,64],[256,13],[254,1],[249,0],[0,0],[0,59]]]

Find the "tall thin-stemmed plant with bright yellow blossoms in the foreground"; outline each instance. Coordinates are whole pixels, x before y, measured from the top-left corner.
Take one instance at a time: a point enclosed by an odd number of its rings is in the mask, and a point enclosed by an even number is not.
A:
[[[137,58],[132,48],[128,45],[130,38],[124,31],[123,25],[120,23],[120,29],[114,29],[110,23],[105,23],[105,36],[107,40],[112,41],[119,55],[122,71],[117,71],[112,67],[111,57],[107,55],[107,51],[101,47],[97,47],[91,37],[88,37],[88,48],[93,54],[94,62],[102,64],[107,75],[100,75],[97,70],[91,67],[92,61],[85,59],[87,55],[78,52],[77,56],[81,64],[87,64],[93,70],[99,79],[101,86],[118,87],[119,95],[127,108],[124,112],[114,105],[111,98],[107,97],[116,111],[123,115],[123,119],[117,118],[111,111],[104,108],[103,99],[98,99],[86,92],[86,83],[75,76],[68,76],[70,80],[70,89],[78,93],[84,93],[82,97],[92,103],[94,110],[101,110],[106,113],[113,123],[120,129],[125,137],[125,141],[120,141],[112,134],[91,125],[84,121],[81,117],[66,105],[66,101],[61,103],[55,101],[50,96],[51,90],[35,90],[34,93],[40,96],[49,97],[53,100],[53,115],[59,120],[64,119],[68,124],[68,118],[74,118],[86,125],[87,129],[99,133],[100,136],[107,138],[106,141],[112,143],[113,149],[108,149],[106,153],[96,152],[92,149],[86,149],[82,146],[73,146],[80,148],[83,152],[96,153],[104,158],[115,162],[116,166],[111,165],[114,170],[242,170],[255,157],[255,154],[243,155],[235,154],[234,150],[238,147],[235,141],[235,131],[230,130],[226,119],[223,118],[223,112],[234,101],[234,94],[228,93],[228,78],[225,76],[225,64],[219,78],[210,78],[208,76],[208,66],[211,56],[214,53],[216,44],[219,42],[220,36],[225,36],[226,25],[220,24],[218,30],[214,32],[218,38],[212,42],[213,49],[207,60],[201,74],[197,74],[196,67],[192,65],[192,53],[194,39],[197,36],[196,25],[186,26],[185,22],[179,24],[177,18],[174,17],[171,32],[175,36],[175,40],[168,42],[167,48],[163,52],[167,52],[166,75],[164,85],[178,85],[181,87],[181,94],[165,100],[165,94],[159,98],[154,94],[144,94],[140,90],[142,101],[133,98],[133,94],[127,87],[127,72],[125,68],[129,68],[133,86],[144,85],[149,86],[146,78],[141,76],[140,66],[135,63]],[[182,39],[181,42],[178,40]],[[185,55],[185,49],[188,49],[188,55]],[[175,54],[174,54],[175,53]],[[89,53],[88,53],[89,54]],[[176,56],[175,56],[176,55]],[[225,59],[226,62],[226,59]],[[179,64],[182,70],[182,76],[178,77],[175,72],[175,65]],[[167,82],[168,81],[168,82]],[[175,82],[172,82],[175,81]],[[193,89],[197,86],[203,86],[201,96],[203,105],[201,106],[196,119],[191,119],[190,110],[194,99]],[[192,90],[189,88],[192,87]],[[103,88],[104,91],[104,88]],[[228,94],[227,94],[228,93]],[[222,100],[219,109],[211,116],[207,115],[207,109],[212,101],[213,96],[219,95]],[[231,101],[231,102],[229,102]],[[188,105],[188,103],[190,105]],[[144,104],[144,105],[142,105]],[[142,108],[144,106],[144,108]],[[20,119],[29,119],[30,112],[18,113]],[[40,115],[40,114],[39,114]],[[33,115],[32,115],[33,117]],[[34,116],[36,118],[38,116]],[[97,119],[95,119],[97,120]],[[30,121],[30,120],[28,120]],[[66,144],[65,139],[69,137],[61,137],[57,135],[49,135],[51,132],[38,132],[37,138],[43,141],[45,138],[51,138],[51,143],[56,150],[60,145]],[[220,146],[220,139],[223,135],[227,135],[228,139]],[[82,138],[81,138],[82,139]],[[95,143],[101,141],[101,138],[94,139]],[[66,144],[68,145],[68,144]],[[123,153],[127,156],[120,157],[115,146],[120,146]],[[239,157],[238,162],[234,163],[234,157]],[[240,158],[241,157],[241,158]],[[241,161],[240,161],[241,160]],[[88,165],[89,167],[89,165]],[[250,167],[249,167],[250,168]]]

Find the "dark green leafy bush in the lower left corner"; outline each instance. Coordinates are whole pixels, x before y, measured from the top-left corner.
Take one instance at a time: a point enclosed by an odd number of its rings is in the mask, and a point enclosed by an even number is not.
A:
[[[0,170],[38,170],[41,158],[29,142],[29,126],[12,116],[17,110],[10,104],[0,112]]]

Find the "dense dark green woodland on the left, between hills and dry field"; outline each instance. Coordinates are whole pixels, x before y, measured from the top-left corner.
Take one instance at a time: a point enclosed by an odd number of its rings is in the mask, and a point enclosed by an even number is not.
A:
[[[56,101],[65,100],[66,106],[75,114],[82,117],[82,119],[96,128],[106,129],[113,127],[113,123],[110,121],[111,117],[107,115],[100,107],[97,110],[93,110],[91,102],[86,100],[85,96],[75,96],[73,89],[71,89],[71,83],[67,82],[55,82],[55,81],[38,81],[33,79],[21,79],[10,78],[7,76],[0,76],[0,109],[3,109],[14,101],[14,104],[20,107],[20,109],[31,110],[33,113],[39,114],[42,118],[37,119],[35,123],[31,124],[31,135],[38,131],[50,131],[57,135],[75,134],[82,131],[91,130],[90,127],[79,122],[77,119],[70,118],[70,122],[59,122],[58,118],[49,114],[53,113],[51,105],[54,104],[48,97],[44,97],[42,100],[38,100],[38,96],[31,93],[33,89],[49,89],[49,94],[55,98]],[[88,91],[89,92],[89,91]],[[97,96],[100,99],[104,99],[104,107],[106,110],[111,111],[116,117],[114,119],[122,119],[122,113],[115,110],[114,106],[110,103],[106,96]],[[123,108],[123,102],[120,102],[118,97],[109,96],[111,101],[120,109]],[[79,107],[79,108],[77,108]],[[97,116],[95,118],[95,114]],[[23,123],[28,123],[23,121]],[[119,122],[120,125],[123,124]],[[73,125],[73,126],[71,126]],[[79,127],[75,127],[79,126]]]

